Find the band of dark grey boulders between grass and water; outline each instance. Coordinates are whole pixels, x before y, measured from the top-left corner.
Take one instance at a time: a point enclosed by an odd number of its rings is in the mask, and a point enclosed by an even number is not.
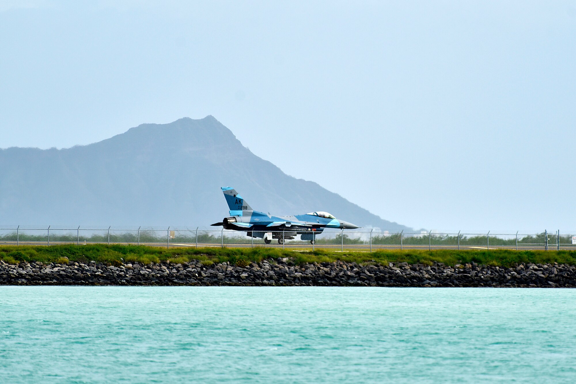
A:
[[[248,263],[245,263],[248,264]],[[286,258],[248,265],[168,261],[141,265],[96,263],[7,264],[0,260],[0,285],[114,286],[373,286],[373,287],[576,287],[576,267],[520,264],[513,268],[475,263],[446,266],[388,263],[312,263]]]

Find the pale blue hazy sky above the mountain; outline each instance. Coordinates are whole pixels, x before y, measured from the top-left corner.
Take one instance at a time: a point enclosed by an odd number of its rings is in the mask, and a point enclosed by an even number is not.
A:
[[[0,0],[0,147],[213,115],[384,219],[576,230],[576,1],[122,4]]]

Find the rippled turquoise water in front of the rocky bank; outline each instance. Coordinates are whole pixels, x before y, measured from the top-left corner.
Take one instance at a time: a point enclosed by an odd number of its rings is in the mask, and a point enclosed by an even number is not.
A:
[[[0,382],[575,382],[576,290],[0,287]]]

